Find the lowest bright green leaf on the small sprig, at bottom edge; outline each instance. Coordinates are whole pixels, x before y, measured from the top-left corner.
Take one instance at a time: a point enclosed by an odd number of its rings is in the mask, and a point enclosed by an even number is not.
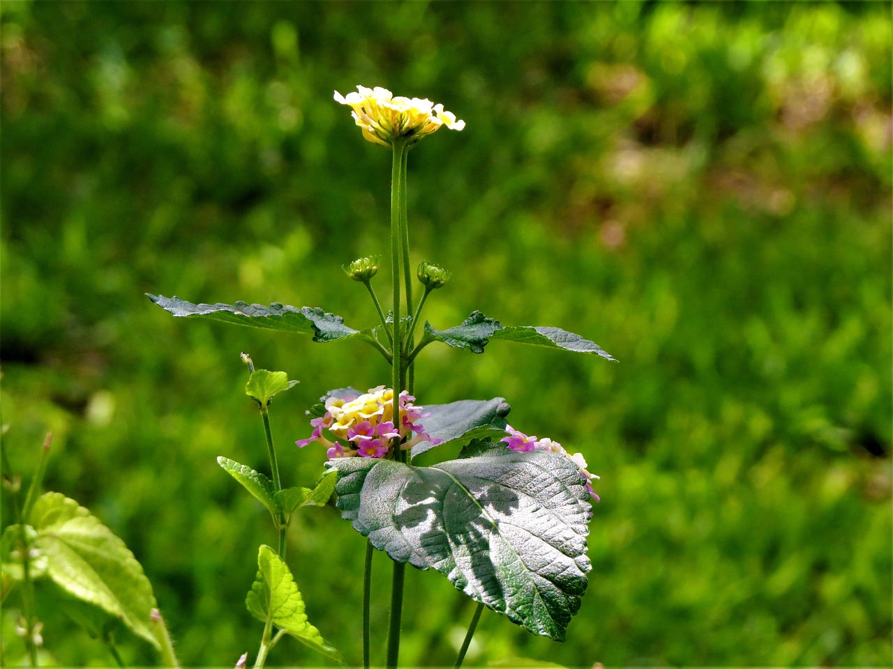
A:
[[[304,599],[288,565],[269,546],[257,554],[257,576],[248,592],[246,606],[262,623],[272,615],[273,624],[326,657],[343,665],[341,654],[307,621]]]

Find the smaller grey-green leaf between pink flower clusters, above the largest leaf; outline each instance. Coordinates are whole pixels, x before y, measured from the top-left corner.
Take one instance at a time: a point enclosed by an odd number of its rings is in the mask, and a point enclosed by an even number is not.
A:
[[[434,439],[442,440],[438,446],[464,445],[472,439],[499,434],[505,436],[505,417],[512,408],[505,398],[492,400],[460,400],[449,404],[426,404],[424,412],[430,416],[421,419],[425,432]],[[413,446],[413,458],[434,448],[431,442],[419,442]]]

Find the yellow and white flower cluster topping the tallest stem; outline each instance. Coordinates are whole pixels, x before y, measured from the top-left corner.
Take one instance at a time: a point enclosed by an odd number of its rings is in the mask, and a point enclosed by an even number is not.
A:
[[[461,130],[465,121],[456,120],[455,114],[446,111],[444,105],[433,104],[427,98],[394,96],[387,88],[356,87],[357,93],[341,95],[335,91],[335,100],[354,111],[356,125],[363,136],[374,144],[390,146],[397,140],[413,145],[421,137],[430,135],[447,126]]]

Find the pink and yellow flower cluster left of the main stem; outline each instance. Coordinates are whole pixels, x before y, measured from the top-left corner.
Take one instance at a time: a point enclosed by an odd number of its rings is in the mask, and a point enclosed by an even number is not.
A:
[[[330,397],[325,402],[325,414],[310,421],[313,434],[295,443],[303,449],[308,443],[320,442],[328,447],[329,459],[384,458],[396,443],[402,449],[419,442],[439,443],[421,426],[421,418],[429,414],[422,413],[423,408],[413,401],[415,398],[408,392],[400,393],[398,427],[394,421],[394,391],[390,388],[380,385],[361,395]],[[334,439],[322,436],[323,430]]]

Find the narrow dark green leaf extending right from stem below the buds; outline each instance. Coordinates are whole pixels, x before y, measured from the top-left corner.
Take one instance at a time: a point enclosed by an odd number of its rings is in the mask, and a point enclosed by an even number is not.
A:
[[[480,311],[474,311],[462,325],[447,330],[435,330],[428,321],[425,321],[425,333],[430,341],[447,343],[454,348],[468,349],[474,353],[482,353],[489,340],[501,339],[550,349],[595,353],[602,358],[613,360],[613,357],[603,351],[597,343],[559,327],[504,326],[498,320],[487,318]]]

